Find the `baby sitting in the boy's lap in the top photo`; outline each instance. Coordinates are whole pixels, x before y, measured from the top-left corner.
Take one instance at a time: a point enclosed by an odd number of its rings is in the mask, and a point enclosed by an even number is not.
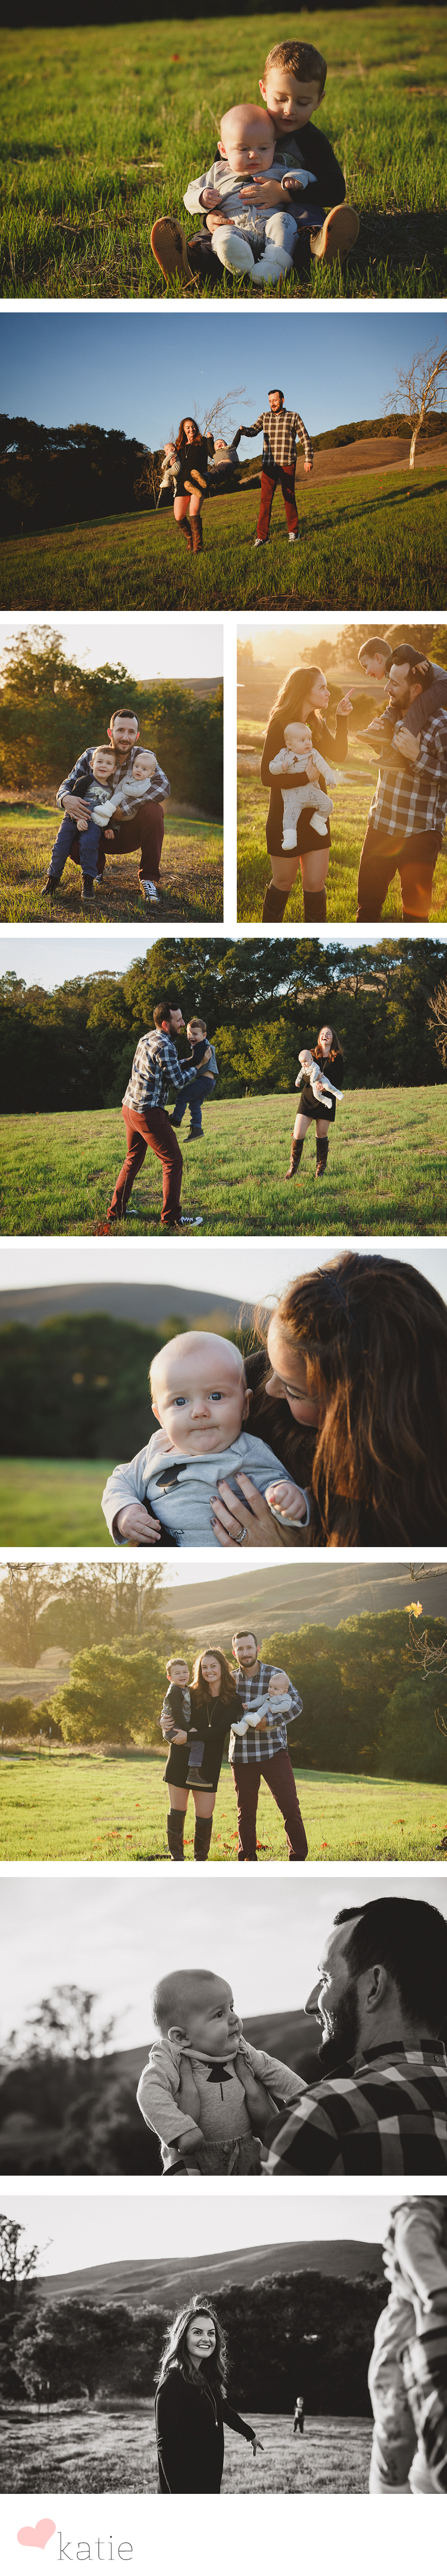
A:
[[[221,160],[213,162],[200,178],[190,180],[182,204],[188,214],[206,209],[208,216],[224,219],[208,232],[213,237],[216,260],[221,268],[249,276],[257,268],[257,281],[288,276],[293,268],[295,245],[295,214],[290,211],[288,196],[285,206],[275,206],[272,214],[265,206],[254,206],[244,193],[247,185],[257,185],[267,173],[277,178],[283,188],[285,162],[275,160],[275,124],[265,111],[247,100],[221,118]],[[298,188],[308,185],[311,170],[288,170]],[[254,260],[254,250],[262,247],[262,258]]]

